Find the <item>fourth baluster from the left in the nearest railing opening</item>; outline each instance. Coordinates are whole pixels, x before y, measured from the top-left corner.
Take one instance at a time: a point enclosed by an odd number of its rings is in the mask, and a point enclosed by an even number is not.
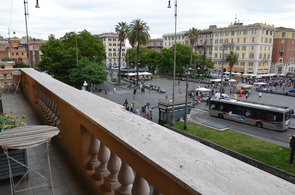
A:
[[[121,168],[118,173],[118,181],[121,185],[119,188],[115,189],[115,195],[131,195],[133,180],[134,173],[132,168],[122,161]]]

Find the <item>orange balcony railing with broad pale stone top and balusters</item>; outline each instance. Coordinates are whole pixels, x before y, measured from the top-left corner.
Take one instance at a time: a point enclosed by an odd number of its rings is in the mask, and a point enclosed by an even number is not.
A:
[[[24,95],[47,124],[60,129],[58,141],[98,194],[148,195],[148,183],[153,194],[292,194],[295,190],[294,184],[122,105],[33,69],[20,70]],[[0,70],[0,74],[9,72],[12,69]]]

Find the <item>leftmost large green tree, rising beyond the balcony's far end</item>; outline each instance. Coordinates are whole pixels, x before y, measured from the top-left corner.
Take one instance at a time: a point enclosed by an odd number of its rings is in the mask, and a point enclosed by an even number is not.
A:
[[[42,60],[37,64],[43,71],[54,76],[69,77],[70,70],[77,66],[76,49],[67,47],[50,34],[48,41],[41,45]]]

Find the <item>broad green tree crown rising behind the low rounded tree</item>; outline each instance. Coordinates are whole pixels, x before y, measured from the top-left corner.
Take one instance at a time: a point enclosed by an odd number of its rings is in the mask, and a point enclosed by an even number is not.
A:
[[[76,38],[78,48],[78,59],[81,57],[87,57],[91,61],[102,62],[106,59],[106,52],[104,51],[104,45],[99,41],[99,37],[92,35],[86,29],[78,32],[67,32],[62,37],[61,43],[65,47],[73,47],[76,50]]]

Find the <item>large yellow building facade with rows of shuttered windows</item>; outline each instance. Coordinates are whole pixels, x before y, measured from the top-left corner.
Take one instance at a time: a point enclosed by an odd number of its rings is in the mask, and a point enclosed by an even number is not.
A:
[[[237,54],[238,62],[232,68],[233,72],[247,74],[269,73],[274,32],[274,26],[261,23],[250,25],[235,23],[228,27],[213,29],[212,60],[214,61],[216,73],[221,74],[223,47],[224,71],[230,70],[225,59],[230,51],[234,51]]]

